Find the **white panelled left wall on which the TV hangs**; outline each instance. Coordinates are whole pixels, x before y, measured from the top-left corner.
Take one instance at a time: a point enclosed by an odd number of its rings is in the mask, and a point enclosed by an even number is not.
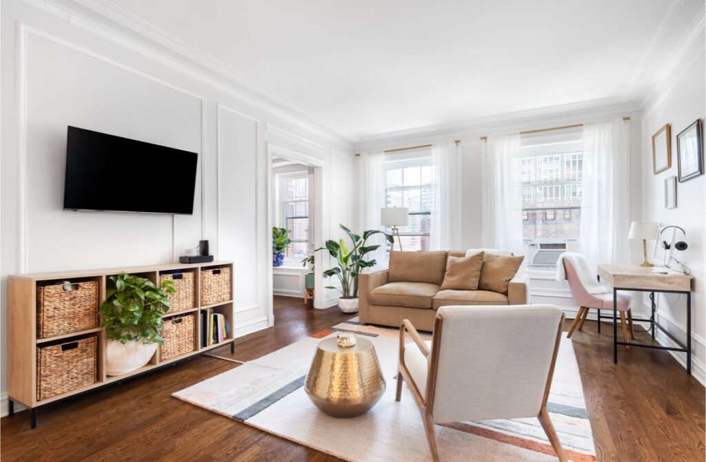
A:
[[[322,206],[338,205],[323,219],[337,224],[352,211],[352,191],[339,188],[350,176],[347,140],[177,51],[52,5],[1,4],[1,338],[11,329],[8,274],[175,262],[201,238],[234,260],[236,335],[272,325],[268,146],[320,162],[323,193],[335,199]],[[64,212],[68,125],[198,152],[193,216]],[[106,184],[120,189],[117,178]],[[167,178],[164,194],[174,187]],[[316,244],[334,228],[325,221]],[[0,348],[5,411],[4,340]]]

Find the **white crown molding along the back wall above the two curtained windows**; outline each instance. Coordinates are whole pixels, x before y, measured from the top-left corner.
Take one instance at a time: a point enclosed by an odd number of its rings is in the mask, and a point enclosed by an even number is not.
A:
[[[609,114],[624,114],[640,111],[642,102],[622,102],[617,97],[592,99],[589,101],[559,104],[556,106],[527,109],[526,111],[508,112],[494,116],[472,118],[460,123],[448,123],[437,126],[411,128],[378,135],[362,137],[353,145],[354,150],[365,150],[371,147],[381,147],[386,143],[405,141],[443,140],[477,135],[503,133],[510,130],[529,130],[542,128],[553,121],[573,123]],[[537,123],[542,126],[536,126]],[[388,146],[390,147],[390,146]]]

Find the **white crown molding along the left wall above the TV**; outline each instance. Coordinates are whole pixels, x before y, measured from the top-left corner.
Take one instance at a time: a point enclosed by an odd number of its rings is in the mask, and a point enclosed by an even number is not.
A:
[[[347,146],[355,137],[311,114],[265,85],[106,0],[21,0],[62,21],[167,64],[327,140]],[[121,29],[121,30],[119,30]]]

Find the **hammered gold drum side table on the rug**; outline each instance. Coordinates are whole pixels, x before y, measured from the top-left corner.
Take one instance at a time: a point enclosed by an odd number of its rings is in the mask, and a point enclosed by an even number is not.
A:
[[[337,338],[319,342],[304,385],[311,402],[337,418],[356,417],[375,406],[385,392],[385,379],[371,341],[338,346]]]

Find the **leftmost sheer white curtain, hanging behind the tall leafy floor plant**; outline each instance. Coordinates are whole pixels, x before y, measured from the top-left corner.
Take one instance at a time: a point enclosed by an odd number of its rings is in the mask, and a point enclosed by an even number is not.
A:
[[[384,231],[380,224],[380,209],[385,207],[385,153],[371,152],[360,155],[358,179],[360,191],[360,229],[353,230],[362,236],[363,231],[379,229]],[[366,255],[367,260],[377,260],[377,265],[371,271],[388,267],[385,255],[385,239],[381,235],[373,236],[367,245],[379,244],[378,250]]]

